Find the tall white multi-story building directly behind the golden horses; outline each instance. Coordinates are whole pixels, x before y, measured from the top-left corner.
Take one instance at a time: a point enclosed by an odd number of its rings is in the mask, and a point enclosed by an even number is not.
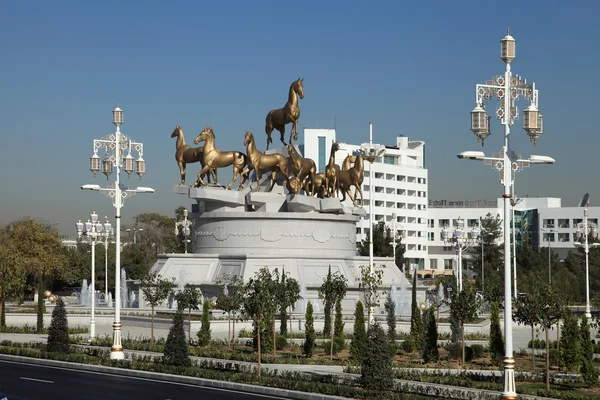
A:
[[[304,130],[304,157],[315,161],[317,172],[325,171],[331,145],[335,140],[333,129]],[[344,159],[354,154],[361,146],[340,142],[339,147],[335,154],[335,163],[341,166]],[[428,174],[424,165],[425,143],[398,136],[394,145],[384,147],[383,156],[373,164],[364,164],[364,207],[368,215],[369,207],[373,204],[374,223],[384,221],[390,229],[395,228],[397,237],[403,238],[407,266],[423,268],[427,264]],[[369,187],[371,170],[374,174],[373,188]],[[354,191],[352,193],[354,194]],[[347,199],[346,202],[350,200]],[[362,241],[368,234],[367,217],[357,224],[357,242]]]

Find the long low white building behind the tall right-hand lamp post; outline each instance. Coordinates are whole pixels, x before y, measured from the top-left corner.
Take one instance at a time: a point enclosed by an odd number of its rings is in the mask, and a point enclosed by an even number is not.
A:
[[[550,245],[553,252],[564,258],[569,250],[575,249],[578,241],[577,224],[583,222],[583,208],[562,207],[560,198],[525,197],[515,206],[515,242],[517,246],[527,244],[534,250]],[[503,199],[449,201],[431,200],[428,207],[428,259],[424,275],[451,273],[456,265],[456,251],[442,238],[442,229],[452,233],[456,221],[463,219],[465,230],[470,232],[479,227],[480,218],[488,214],[504,219]],[[588,221],[598,224],[600,207],[588,208]],[[512,226],[512,223],[511,223]],[[501,225],[502,227],[502,225]],[[511,235],[512,236],[512,235]],[[500,237],[498,243],[503,241]],[[485,251],[485,249],[484,249]],[[467,260],[468,262],[468,260]]]

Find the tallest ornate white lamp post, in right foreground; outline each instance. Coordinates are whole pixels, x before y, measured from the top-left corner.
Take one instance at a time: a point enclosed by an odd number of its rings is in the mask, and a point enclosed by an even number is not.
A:
[[[554,159],[547,156],[530,156],[523,160],[510,147],[510,127],[518,118],[515,106],[520,96],[529,101],[523,114],[523,128],[534,146],[542,135],[543,117],[538,110],[538,91],[535,83],[527,83],[525,79],[511,72],[511,62],[516,56],[516,41],[510,35],[510,30],[500,41],[500,58],[505,63],[504,74],[494,77],[485,84],[475,88],[475,108],[471,112],[471,130],[477,136],[477,141],[483,146],[483,141],[490,135],[490,117],[486,114],[484,104],[488,100],[498,99],[500,106],[496,116],[504,125],[504,146],[501,153],[486,157],[482,151],[466,151],[458,154],[460,159],[484,161],[500,173],[500,182],[504,185],[504,335],[506,337],[504,354],[504,386],[500,399],[518,399],[515,388],[515,361],[513,358],[512,337],[512,296],[510,271],[510,198],[511,185],[514,175],[520,169],[530,164],[553,164]]]

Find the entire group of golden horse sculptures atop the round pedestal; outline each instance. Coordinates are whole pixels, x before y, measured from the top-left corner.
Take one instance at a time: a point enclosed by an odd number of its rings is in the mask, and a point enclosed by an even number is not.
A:
[[[240,151],[221,151],[215,146],[215,133],[212,126],[205,127],[194,140],[198,145],[204,142],[203,147],[190,147],[185,143],[183,129],[179,125],[171,133],[171,138],[177,138],[175,145],[175,160],[179,167],[181,175],[180,186],[185,185],[186,165],[198,162],[201,169],[197,175],[193,187],[206,186],[211,183],[218,183],[217,170],[219,168],[233,167],[233,178],[226,186],[230,189],[236,180],[240,180],[238,187],[242,189],[245,182],[250,177],[250,172],[254,171],[254,179],[257,182],[256,190],[260,190],[260,178],[265,170],[271,173],[271,186],[273,189],[276,183],[277,174],[281,174],[285,180],[289,193],[304,194],[308,196],[317,196],[320,198],[334,197],[342,194],[344,201],[346,195],[356,206],[357,195],[360,194],[360,204],[363,205],[363,194],[361,185],[364,178],[364,160],[373,162],[373,159],[361,155],[350,155],[346,157],[342,168],[335,164],[335,152],[339,150],[337,141],[332,142],[329,162],[324,173],[317,173],[316,165],[310,158],[303,158],[292,144],[293,140],[298,140],[298,120],[300,118],[300,108],[298,106],[298,97],[304,98],[304,79],[298,78],[290,85],[288,101],[279,109],[271,110],[267,114],[265,121],[265,133],[267,134],[267,150],[269,144],[273,143],[271,133],[277,130],[281,133],[281,142],[287,147],[288,157],[273,153],[265,154],[256,148],[256,142],[251,130],[246,130],[244,136],[244,146],[246,153]],[[285,142],[285,125],[292,124],[290,131],[289,144]],[[288,165],[290,168],[288,168]],[[354,187],[354,195],[351,189]]]

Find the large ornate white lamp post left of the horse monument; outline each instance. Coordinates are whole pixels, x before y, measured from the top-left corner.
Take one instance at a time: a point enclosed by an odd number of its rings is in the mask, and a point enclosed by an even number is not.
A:
[[[115,183],[106,188],[101,188],[100,185],[87,184],[83,185],[83,190],[94,190],[102,192],[112,199],[115,207],[115,322],[113,323],[113,345],[110,352],[111,360],[123,360],[123,346],[121,344],[121,207],[129,197],[136,193],[154,193],[154,189],[149,187],[139,186],[136,189],[128,189],[122,185],[119,180],[121,168],[129,176],[135,171],[140,179],[146,173],[146,161],[142,158],[144,145],[134,142],[129,137],[121,133],[121,125],[123,124],[123,110],[117,108],[113,110],[113,124],[117,127],[115,133],[105,136],[102,139],[94,139],[94,154],[90,157],[90,170],[94,173],[94,177],[98,171],[106,175],[106,179],[113,172],[113,167],[116,170]],[[104,159],[101,161],[98,156],[99,150],[104,150]],[[131,153],[138,154],[137,160],[134,160]],[[124,156],[125,152],[127,155]]]

